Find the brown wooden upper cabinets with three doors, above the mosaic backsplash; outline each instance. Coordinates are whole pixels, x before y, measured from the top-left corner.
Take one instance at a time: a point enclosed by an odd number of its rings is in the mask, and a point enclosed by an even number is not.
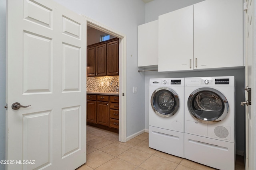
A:
[[[87,76],[114,76],[118,72],[118,38],[87,46]]]

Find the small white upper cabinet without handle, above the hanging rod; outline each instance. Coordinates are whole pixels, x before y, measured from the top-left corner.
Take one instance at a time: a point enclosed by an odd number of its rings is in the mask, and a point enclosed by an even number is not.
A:
[[[138,67],[158,66],[158,20],[138,26]]]

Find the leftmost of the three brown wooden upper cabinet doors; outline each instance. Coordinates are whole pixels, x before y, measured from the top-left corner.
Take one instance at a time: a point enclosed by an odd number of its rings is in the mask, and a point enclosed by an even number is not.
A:
[[[95,47],[87,49],[87,76],[95,76],[96,71],[96,51]]]

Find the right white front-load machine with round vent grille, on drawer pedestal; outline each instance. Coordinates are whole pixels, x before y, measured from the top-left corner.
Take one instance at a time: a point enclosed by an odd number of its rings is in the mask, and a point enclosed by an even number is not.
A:
[[[184,158],[234,170],[235,78],[185,78]]]

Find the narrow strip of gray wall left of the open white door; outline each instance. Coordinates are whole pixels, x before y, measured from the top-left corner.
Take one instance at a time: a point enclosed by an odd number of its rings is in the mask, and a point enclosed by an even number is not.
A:
[[[6,1],[0,0],[0,160],[5,160],[5,39]],[[0,164],[0,170],[4,170]]]

